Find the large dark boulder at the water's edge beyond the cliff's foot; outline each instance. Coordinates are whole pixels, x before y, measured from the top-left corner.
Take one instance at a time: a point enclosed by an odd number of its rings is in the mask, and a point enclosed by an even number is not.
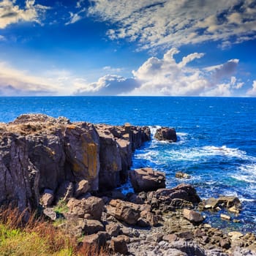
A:
[[[149,167],[131,170],[129,177],[135,192],[147,192],[165,187],[165,173]]]

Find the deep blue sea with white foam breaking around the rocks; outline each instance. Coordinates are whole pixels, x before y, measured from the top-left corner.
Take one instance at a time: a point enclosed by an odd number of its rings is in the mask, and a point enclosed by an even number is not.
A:
[[[22,113],[66,116],[71,121],[174,127],[176,143],[151,140],[135,151],[132,167],[165,171],[167,187],[181,182],[201,198],[235,195],[240,223],[206,212],[207,221],[227,230],[256,232],[256,98],[214,97],[0,97],[0,121]],[[175,178],[178,171],[191,178]],[[126,186],[129,188],[129,184]]]

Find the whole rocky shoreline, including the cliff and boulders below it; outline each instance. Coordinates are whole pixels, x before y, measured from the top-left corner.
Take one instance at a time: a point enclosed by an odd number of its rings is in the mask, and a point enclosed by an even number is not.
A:
[[[177,140],[167,127],[156,138]],[[255,234],[223,233],[203,218],[220,208],[239,214],[237,197],[202,201],[188,184],[166,189],[165,173],[129,170],[132,152],[148,140],[148,127],[42,114],[0,124],[0,205],[12,203],[25,217],[41,209],[81,244],[113,255],[256,255]],[[136,193],[123,195],[116,187],[128,176]]]

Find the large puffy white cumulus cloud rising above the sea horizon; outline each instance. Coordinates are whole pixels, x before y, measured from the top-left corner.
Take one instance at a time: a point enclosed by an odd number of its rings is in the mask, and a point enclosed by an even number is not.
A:
[[[192,53],[177,62],[177,48],[167,50],[162,59],[151,57],[137,70],[133,78],[105,75],[95,83],[88,83],[78,95],[173,95],[173,96],[230,96],[244,83],[234,76],[238,59],[204,69],[189,67],[191,61],[204,53]],[[105,70],[110,67],[105,67]]]

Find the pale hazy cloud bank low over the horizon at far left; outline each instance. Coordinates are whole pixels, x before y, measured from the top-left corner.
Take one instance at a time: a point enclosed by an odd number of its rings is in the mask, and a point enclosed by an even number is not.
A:
[[[86,80],[75,77],[65,70],[41,71],[31,75],[26,70],[11,67],[0,61],[0,95],[69,95],[84,86]]]

